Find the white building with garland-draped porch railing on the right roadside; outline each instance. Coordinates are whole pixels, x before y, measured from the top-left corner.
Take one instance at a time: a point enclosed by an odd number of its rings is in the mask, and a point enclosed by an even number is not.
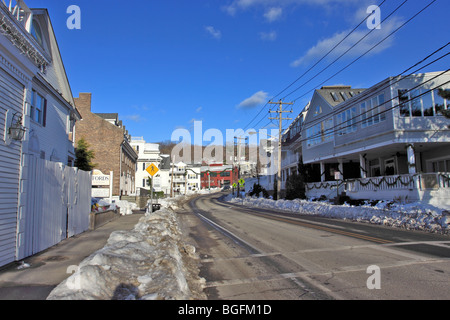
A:
[[[448,202],[450,120],[439,89],[449,80],[448,72],[392,77],[334,106],[316,92],[302,132],[303,162],[320,182],[310,194]],[[331,90],[327,100],[341,95]]]

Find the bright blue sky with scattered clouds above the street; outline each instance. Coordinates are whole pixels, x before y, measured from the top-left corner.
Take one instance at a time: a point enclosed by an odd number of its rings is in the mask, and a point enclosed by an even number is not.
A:
[[[449,40],[448,0],[435,1],[403,27],[432,0],[25,2],[48,9],[73,96],[92,93],[92,112],[118,113],[130,135],[154,143],[179,139],[173,136],[180,130],[194,139],[194,128],[204,145],[209,129],[225,140],[227,130],[276,128],[269,100],[294,102],[289,116],[295,118],[314,89],[371,87]],[[80,9],[80,29],[68,28],[71,5]],[[379,5],[379,28],[376,13],[367,13],[371,5]],[[443,71],[449,62],[422,71]]]

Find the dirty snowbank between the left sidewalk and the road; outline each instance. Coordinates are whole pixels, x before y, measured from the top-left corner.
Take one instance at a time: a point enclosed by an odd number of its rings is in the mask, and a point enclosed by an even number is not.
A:
[[[195,247],[181,239],[175,213],[163,208],[131,231],[113,232],[47,299],[204,299],[197,259]]]

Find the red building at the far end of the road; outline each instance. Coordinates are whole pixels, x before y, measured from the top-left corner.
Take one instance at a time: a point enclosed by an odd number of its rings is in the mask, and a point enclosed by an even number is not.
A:
[[[200,180],[202,189],[231,187],[238,181],[238,168],[222,163],[203,165]]]

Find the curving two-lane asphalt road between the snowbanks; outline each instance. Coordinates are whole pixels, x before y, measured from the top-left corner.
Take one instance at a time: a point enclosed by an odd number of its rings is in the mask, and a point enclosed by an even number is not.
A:
[[[449,299],[450,237],[223,202],[186,203],[182,225],[213,300]]]

